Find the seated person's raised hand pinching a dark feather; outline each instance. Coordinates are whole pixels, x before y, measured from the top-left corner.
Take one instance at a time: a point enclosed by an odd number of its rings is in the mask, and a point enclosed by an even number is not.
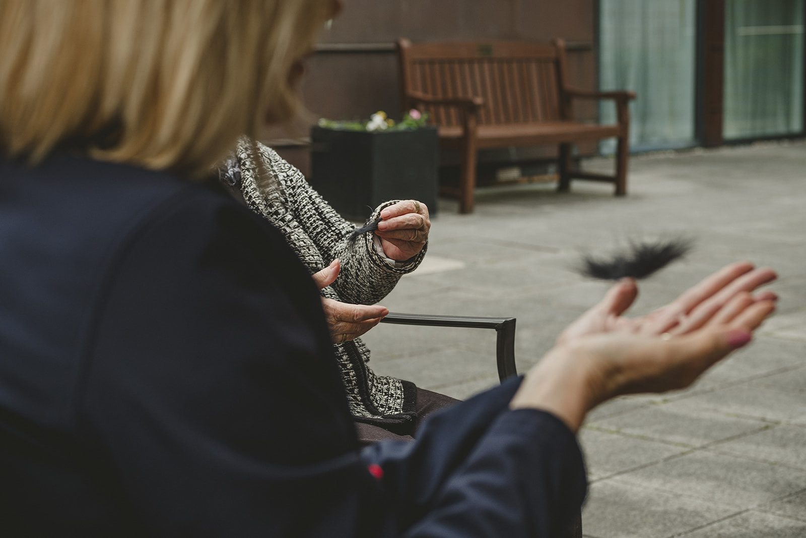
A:
[[[376,235],[384,253],[395,261],[417,256],[428,240],[431,221],[428,207],[417,200],[404,200],[380,211]]]

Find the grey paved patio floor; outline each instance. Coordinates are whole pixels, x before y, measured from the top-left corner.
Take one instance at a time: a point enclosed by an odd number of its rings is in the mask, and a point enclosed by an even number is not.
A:
[[[588,168],[609,169],[596,159]],[[779,272],[779,309],[754,343],[689,390],[620,398],[580,432],[591,482],[584,535],[806,536],[806,143],[637,156],[629,196],[575,181],[482,190],[476,213],[443,201],[426,261],[391,311],[517,317],[525,372],[607,285],[576,275],[581,252],[682,233],[696,249],[642,284],[658,307],[730,261]],[[465,398],[497,382],[480,329],[380,325],[376,373]]]

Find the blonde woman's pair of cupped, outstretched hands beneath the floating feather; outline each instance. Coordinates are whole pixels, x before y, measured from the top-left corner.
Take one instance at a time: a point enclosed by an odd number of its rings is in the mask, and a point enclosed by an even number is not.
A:
[[[638,289],[633,281],[620,282],[563,332],[510,407],[550,411],[576,431],[588,411],[609,398],[684,389],[750,342],[777,299],[752,292],[774,279],[771,269],[729,265],[635,319],[621,314]]]

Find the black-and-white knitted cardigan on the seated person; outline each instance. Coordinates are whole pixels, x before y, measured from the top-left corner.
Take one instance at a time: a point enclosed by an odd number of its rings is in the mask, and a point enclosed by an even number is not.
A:
[[[298,169],[263,144],[240,140],[220,175],[240,189],[253,211],[283,233],[311,274],[339,258],[341,273],[322,290],[324,297],[352,304],[379,302],[402,275],[420,265],[426,253],[423,248],[412,259],[396,262],[384,256],[374,234],[350,239],[355,227],[322,199]],[[378,206],[370,219],[394,202]],[[413,383],[373,373],[367,364],[369,349],[359,338],[334,344],[334,351],[355,420],[405,432],[415,416]]]

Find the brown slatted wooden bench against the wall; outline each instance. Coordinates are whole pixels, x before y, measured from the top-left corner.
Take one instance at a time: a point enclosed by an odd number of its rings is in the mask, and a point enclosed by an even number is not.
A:
[[[558,190],[571,179],[608,181],[617,196],[627,192],[629,100],[633,92],[576,90],[565,79],[563,40],[537,43],[412,44],[397,41],[402,102],[430,115],[439,127],[442,147],[461,150],[458,189],[442,194],[459,198],[459,211],[473,211],[476,152],[481,148],[558,144]],[[611,99],[617,123],[575,121],[575,99]],[[618,139],[613,176],[571,169],[572,144]]]

